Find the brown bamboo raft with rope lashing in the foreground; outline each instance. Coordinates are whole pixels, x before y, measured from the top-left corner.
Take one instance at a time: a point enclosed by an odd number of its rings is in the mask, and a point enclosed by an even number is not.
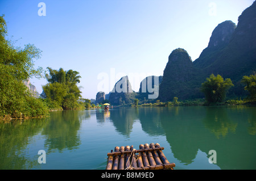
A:
[[[114,152],[108,153],[106,170],[174,170],[175,163],[170,163],[159,144],[133,146],[115,146]]]

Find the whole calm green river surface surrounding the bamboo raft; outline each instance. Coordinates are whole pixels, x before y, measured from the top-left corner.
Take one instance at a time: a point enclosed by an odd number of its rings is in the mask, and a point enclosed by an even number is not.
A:
[[[129,107],[1,121],[0,169],[105,169],[115,146],[151,142],[177,170],[256,169],[256,107]]]

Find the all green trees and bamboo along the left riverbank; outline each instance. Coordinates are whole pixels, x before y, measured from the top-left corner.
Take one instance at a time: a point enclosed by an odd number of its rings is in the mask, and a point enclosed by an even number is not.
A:
[[[28,44],[15,47],[15,41],[7,39],[7,24],[0,16],[0,119],[24,119],[46,117],[49,111],[78,110],[91,108],[88,99],[81,98],[77,86],[79,72],[41,67],[34,68],[34,60],[41,56],[41,50]],[[43,98],[36,98],[24,84],[29,78],[46,77]]]

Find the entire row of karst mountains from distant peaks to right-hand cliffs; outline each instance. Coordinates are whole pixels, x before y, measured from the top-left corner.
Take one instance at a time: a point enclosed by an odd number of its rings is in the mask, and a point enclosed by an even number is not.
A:
[[[135,98],[145,101],[148,95],[154,94],[145,90],[142,85],[152,80],[151,87],[159,87],[156,100],[172,101],[176,96],[179,100],[203,98],[200,91],[201,83],[210,74],[220,74],[224,79],[230,78],[234,87],[228,92],[230,97],[246,96],[247,92],[241,85],[243,75],[256,71],[256,1],[242,12],[236,26],[230,20],[218,24],[213,30],[208,47],[199,58],[192,62],[186,50],[177,48],[168,57],[163,76],[158,83],[154,76],[147,77],[141,82],[139,92],[131,89],[129,78],[122,77],[113,90],[106,94],[112,105],[130,104]],[[125,81],[125,84],[122,82]],[[126,92],[115,91],[117,85],[125,86]],[[124,87],[119,89],[125,90]],[[97,100],[97,98],[96,98]]]

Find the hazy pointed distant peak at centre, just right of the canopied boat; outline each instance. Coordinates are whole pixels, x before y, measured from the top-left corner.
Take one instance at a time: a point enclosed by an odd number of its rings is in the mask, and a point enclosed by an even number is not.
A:
[[[109,95],[109,102],[112,105],[133,103],[136,93],[131,89],[128,76],[122,77]]]

